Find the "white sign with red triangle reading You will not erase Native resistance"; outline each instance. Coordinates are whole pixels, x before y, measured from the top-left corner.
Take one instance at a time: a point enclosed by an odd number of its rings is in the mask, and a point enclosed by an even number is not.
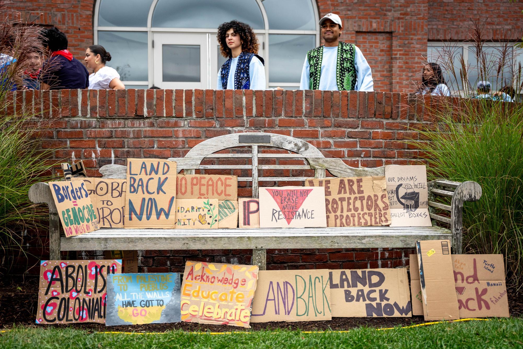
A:
[[[260,228],[326,227],[322,187],[259,188]]]

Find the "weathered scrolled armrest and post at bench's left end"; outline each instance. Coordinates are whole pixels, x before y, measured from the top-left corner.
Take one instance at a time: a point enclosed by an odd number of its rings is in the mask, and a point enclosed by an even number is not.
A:
[[[60,259],[60,217],[54,204],[51,188],[47,183],[36,183],[29,188],[29,200],[35,204],[46,204],[49,208],[49,259]]]

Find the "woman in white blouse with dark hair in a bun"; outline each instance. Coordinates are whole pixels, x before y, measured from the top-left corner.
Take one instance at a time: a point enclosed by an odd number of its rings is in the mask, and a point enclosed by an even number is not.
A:
[[[87,68],[94,70],[89,75],[89,89],[124,89],[126,86],[120,81],[120,74],[106,66],[105,62],[111,60],[111,55],[103,46],[93,45],[85,50],[85,63]]]

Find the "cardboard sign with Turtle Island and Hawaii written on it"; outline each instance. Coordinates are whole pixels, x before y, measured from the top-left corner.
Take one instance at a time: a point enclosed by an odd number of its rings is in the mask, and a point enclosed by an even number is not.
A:
[[[453,254],[460,318],[509,317],[502,254]]]

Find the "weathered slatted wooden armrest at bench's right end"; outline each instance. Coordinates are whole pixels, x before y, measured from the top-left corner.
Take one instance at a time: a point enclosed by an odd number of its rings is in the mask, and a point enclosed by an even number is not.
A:
[[[477,201],[481,198],[481,186],[473,181],[453,182],[446,179],[436,179],[428,182],[430,218],[450,224],[452,233],[452,253],[462,253],[463,243],[463,203]],[[450,205],[436,202],[435,196],[452,198]],[[437,215],[434,208],[450,212],[450,218]]]

